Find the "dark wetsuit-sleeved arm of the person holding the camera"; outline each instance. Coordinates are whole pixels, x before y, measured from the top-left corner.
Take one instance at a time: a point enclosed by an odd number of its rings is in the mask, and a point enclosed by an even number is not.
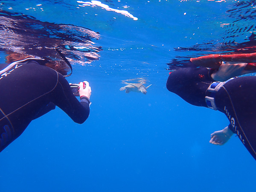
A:
[[[67,113],[76,123],[82,124],[89,116],[89,98],[81,96],[79,102],[74,96],[70,84],[61,75],[59,75],[58,84],[53,91],[52,102]]]

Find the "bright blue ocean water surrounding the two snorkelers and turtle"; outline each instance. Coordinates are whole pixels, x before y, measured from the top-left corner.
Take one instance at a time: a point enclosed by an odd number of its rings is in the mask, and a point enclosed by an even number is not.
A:
[[[98,60],[74,60],[67,77],[90,82],[87,121],[78,125],[59,108],[34,120],[0,153],[0,191],[255,192],[256,162],[239,138],[209,143],[228,125],[225,115],[166,89],[172,59],[248,41],[253,1],[102,0],[112,11],[88,2],[0,1],[14,15],[99,32],[91,42],[102,49]],[[122,80],[138,78],[152,84],[146,95],[119,91]]]

